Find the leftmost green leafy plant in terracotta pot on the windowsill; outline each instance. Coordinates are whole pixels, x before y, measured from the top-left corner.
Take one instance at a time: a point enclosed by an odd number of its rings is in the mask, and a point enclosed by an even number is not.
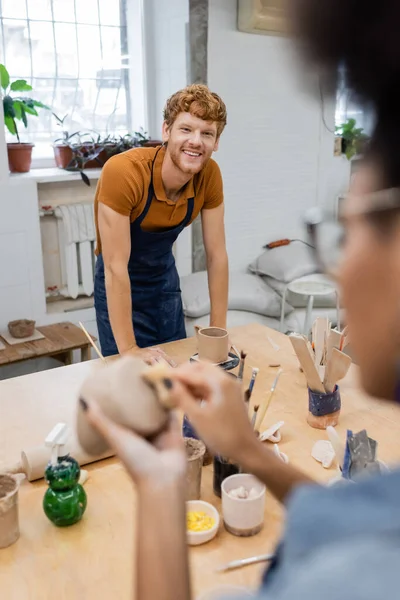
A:
[[[17,138],[17,143],[7,144],[9,168],[11,173],[27,173],[31,168],[34,144],[21,143],[17,121],[22,121],[27,127],[27,115],[37,117],[39,116],[37,108],[49,110],[49,107],[32,98],[11,96],[11,92],[30,92],[32,87],[25,79],[17,79],[10,84],[10,76],[2,64],[0,64],[0,85],[3,90],[4,124]]]

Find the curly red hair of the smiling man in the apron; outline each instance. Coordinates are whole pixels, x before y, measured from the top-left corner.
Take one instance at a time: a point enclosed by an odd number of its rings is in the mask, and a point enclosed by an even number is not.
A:
[[[204,121],[215,121],[217,137],[226,125],[226,106],[218,94],[211,92],[206,85],[188,85],[168,98],[164,108],[164,121],[171,127],[181,112],[189,112]]]

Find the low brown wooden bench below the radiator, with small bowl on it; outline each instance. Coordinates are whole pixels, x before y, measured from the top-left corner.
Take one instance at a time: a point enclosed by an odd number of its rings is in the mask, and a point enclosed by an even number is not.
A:
[[[81,361],[90,359],[91,346],[82,329],[73,323],[55,323],[37,327],[37,330],[45,336],[41,340],[21,341],[20,344],[15,345],[2,340],[6,348],[0,350],[0,366],[45,356],[51,356],[64,365],[70,365],[74,350],[81,351]],[[93,337],[93,340],[96,338]]]

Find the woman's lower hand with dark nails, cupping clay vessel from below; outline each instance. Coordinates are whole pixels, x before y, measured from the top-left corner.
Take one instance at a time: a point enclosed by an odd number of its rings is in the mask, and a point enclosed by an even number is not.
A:
[[[167,428],[148,442],[130,429],[104,415],[96,402],[81,400],[91,425],[115,450],[133,481],[140,487],[181,482],[186,474],[186,450],[176,415],[171,413]]]

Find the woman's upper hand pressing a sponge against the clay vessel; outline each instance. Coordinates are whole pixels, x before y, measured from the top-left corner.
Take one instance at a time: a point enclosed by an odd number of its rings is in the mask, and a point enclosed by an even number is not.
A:
[[[170,377],[171,400],[214,454],[240,462],[243,452],[259,443],[238,381],[207,363],[182,365],[171,370]]]

